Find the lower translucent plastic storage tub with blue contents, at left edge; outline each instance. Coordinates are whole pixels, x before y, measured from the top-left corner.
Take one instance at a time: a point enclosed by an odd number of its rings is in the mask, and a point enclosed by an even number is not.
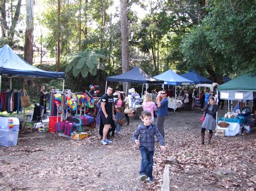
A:
[[[0,129],[0,146],[17,145],[19,130]]]

